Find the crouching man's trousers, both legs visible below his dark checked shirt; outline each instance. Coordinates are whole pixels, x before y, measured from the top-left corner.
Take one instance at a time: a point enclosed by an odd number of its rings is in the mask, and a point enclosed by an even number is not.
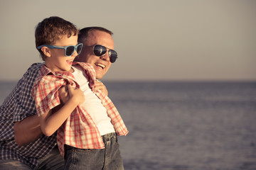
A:
[[[0,160],[1,170],[31,170],[31,167],[23,164],[16,160]],[[55,147],[50,154],[46,157],[39,159],[38,166],[36,170],[63,170],[64,169],[64,159],[58,151],[58,147]]]

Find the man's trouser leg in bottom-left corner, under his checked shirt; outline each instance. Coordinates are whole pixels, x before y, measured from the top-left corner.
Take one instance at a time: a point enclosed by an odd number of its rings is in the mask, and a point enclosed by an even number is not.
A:
[[[19,161],[15,160],[0,160],[0,169],[1,170],[32,170],[31,167],[29,167],[26,164],[23,164]]]

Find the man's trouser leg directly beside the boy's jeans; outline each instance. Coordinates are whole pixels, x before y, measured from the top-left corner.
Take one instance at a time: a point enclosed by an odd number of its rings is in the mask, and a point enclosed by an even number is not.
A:
[[[64,158],[60,155],[58,147],[56,146],[50,154],[43,159],[39,159],[36,170],[63,170]]]

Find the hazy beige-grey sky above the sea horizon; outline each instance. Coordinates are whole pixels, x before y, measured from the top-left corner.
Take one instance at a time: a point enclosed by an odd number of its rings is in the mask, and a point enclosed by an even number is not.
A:
[[[0,81],[33,62],[36,25],[59,16],[114,33],[109,81],[256,81],[255,0],[0,0]]]

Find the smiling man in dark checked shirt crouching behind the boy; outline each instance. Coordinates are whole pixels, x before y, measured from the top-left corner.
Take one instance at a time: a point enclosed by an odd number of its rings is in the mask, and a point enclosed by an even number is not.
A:
[[[114,54],[110,50],[114,49],[111,35],[109,30],[96,27],[82,29],[78,37],[78,42],[84,43],[84,49],[77,61],[92,64],[97,79],[102,79],[111,66],[110,55]],[[105,49],[95,45],[107,47],[105,55],[100,53]],[[116,59],[114,57],[112,61]],[[0,108],[0,169],[63,169],[63,158],[58,150],[53,149],[55,135],[42,135],[31,96],[33,81],[40,68],[41,64],[33,64]],[[94,88],[107,91],[101,83]]]

